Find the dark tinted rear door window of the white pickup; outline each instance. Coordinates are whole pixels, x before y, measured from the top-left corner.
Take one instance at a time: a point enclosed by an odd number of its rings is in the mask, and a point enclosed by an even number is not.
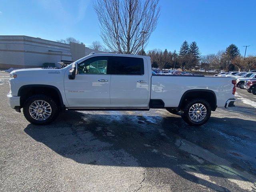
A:
[[[112,74],[115,66],[117,75],[143,75],[144,62],[143,58],[134,57],[118,57],[112,56],[111,58]]]

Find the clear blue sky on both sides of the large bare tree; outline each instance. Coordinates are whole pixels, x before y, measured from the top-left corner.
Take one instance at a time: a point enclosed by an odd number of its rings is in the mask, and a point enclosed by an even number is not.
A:
[[[93,0],[0,0],[0,35],[101,41]],[[256,55],[256,0],[160,0],[161,15],[146,51],[179,50],[196,41],[202,54],[236,44]]]

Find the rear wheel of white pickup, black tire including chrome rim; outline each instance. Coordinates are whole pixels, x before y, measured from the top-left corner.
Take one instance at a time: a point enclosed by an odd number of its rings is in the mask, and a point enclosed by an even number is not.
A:
[[[196,106],[202,109],[197,110]],[[193,99],[185,104],[181,111],[181,117],[187,124],[191,126],[201,126],[209,120],[211,111],[211,106],[206,100]]]

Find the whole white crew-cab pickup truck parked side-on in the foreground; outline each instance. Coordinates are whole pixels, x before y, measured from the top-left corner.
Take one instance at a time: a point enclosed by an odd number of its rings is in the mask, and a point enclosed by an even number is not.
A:
[[[154,75],[150,57],[92,54],[63,68],[31,68],[10,73],[9,105],[23,108],[32,124],[52,122],[59,110],[180,111],[200,126],[217,106],[234,104],[234,78]]]

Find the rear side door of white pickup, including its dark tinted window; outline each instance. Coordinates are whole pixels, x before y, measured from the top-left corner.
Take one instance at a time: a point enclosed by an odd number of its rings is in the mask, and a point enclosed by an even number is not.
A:
[[[149,103],[148,66],[144,58],[111,56],[110,102],[114,106],[146,107]]]

